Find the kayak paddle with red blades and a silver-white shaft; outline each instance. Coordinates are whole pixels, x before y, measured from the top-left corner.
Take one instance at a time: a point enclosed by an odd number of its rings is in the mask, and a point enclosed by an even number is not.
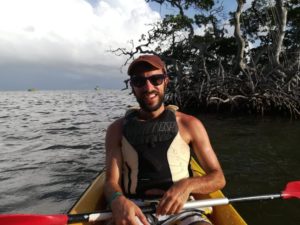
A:
[[[190,201],[184,204],[184,209],[201,208],[209,206],[227,205],[233,202],[272,200],[276,198],[289,199],[300,198],[300,181],[289,182],[285,190],[280,194],[259,195],[240,198],[215,198]],[[141,207],[144,213],[154,213],[155,204]],[[111,218],[110,211],[101,211],[95,213],[76,214],[76,215],[30,215],[30,214],[8,214],[0,215],[0,224],[5,225],[65,225],[76,222],[95,222]]]

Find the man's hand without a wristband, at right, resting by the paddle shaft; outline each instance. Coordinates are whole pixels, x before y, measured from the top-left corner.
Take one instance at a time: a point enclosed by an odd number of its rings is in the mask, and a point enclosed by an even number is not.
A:
[[[188,179],[183,179],[171,186],[158,203],[156,215],[171,215],[181,211],[189,198]]]

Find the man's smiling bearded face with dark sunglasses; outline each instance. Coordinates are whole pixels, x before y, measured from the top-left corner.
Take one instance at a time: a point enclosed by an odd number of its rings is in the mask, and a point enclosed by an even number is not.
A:
[[[167,82],[168,78],[162,69],[153,69],[140,70],[131,77],[130,84],[140,107],[147,112],[153,112],[162,106]]]

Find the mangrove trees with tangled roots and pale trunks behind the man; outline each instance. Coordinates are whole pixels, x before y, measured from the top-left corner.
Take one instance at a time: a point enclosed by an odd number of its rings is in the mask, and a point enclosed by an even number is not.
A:
[[[184,109],[300,117],[300,0],[147,0],[174,9],[125,54],[160,55]],[[233,2],[234,3],[234,2]],[[230,29],[234,30],[230,34]]]

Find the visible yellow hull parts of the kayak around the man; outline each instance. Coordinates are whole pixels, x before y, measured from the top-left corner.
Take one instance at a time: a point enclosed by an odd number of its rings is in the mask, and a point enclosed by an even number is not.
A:
[[[191,168],[194,176],[205,174],[198,163],[192,158]],[[99,173],[95,180],[90,184],[87,190],[82,194],[79,200],[69,210],[69,214],[81,214],[100,211],[105,209],[105,198],[103,193],[103,185],[105,182],[105,171]],[[221,191],[213,192],[209,195],[201,196],[203,199],[224,198]],[[198,196],[197,196],[197,199]],[[231,205],[214,206],[212,214],[208,218],[214,225],[246,225],[247,223]],[[89,225],[90,223],[76,223],[76,225]],[[98,224],[98,223],[97,223]],[[101,224],[101,222],[99,223]]]

